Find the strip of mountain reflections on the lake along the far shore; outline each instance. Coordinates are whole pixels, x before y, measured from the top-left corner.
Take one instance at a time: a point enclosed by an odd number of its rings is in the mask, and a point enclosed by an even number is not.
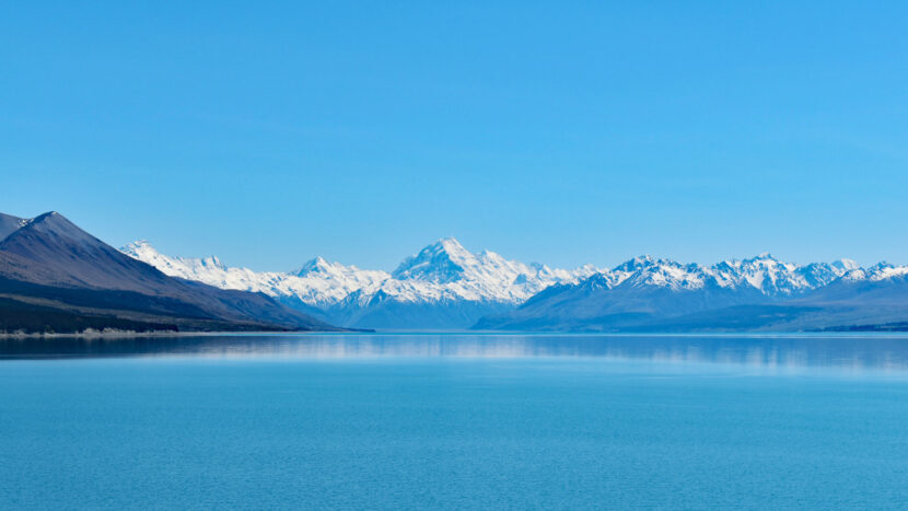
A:
[[[203,335],[5,338],[0,359],[94,357],[595,357],[761,368],[908,370],[908,336]]]

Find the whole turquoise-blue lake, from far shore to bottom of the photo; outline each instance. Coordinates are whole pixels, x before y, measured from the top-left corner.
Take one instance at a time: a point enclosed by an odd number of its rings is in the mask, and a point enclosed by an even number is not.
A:
[[[0,340],[0,508],[893,509],[900,336]]]

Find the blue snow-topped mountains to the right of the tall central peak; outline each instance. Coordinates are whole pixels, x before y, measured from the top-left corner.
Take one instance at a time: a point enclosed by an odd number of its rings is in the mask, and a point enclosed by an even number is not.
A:
[[[650,256],[544,290],[476,328],[517,330],[847,329],[908,321],[908,267],[768,254],[705,267]]]

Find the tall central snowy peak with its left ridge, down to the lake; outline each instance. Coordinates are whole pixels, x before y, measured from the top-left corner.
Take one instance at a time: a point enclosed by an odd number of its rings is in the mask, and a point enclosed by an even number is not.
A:
[[[578,282],[592,266],[552,269],[473,254],[453,237],[406,258],[393,272],[312,259],[292,272],[225,267],[217,258],[160,254],[148,242],[123,248],[161,271],[223,289],[264,292],[334,324],[366,328],[467,328],[512,310],[548,286]]]

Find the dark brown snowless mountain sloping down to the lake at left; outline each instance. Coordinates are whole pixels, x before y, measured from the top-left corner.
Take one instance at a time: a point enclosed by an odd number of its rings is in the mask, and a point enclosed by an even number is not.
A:
[[[48,310],[53,310],[73,317],[128,320],[136,322],[138,329],[331,328],[264,294],[167,277],[56,212],[31,220],[2,216],[0,234],[4,234],[0,241],[0,295],[16,301],[20,311],[7,314],[0,330],[35,329],[31,323],[15,323],[16,317],[25,317],[23,307],[32,307],[37,317],[49,317]],[[124,324],[109,323],[112,327]],[[81,324],[96,327],[104,322]],[[141,324],[148,327],[141,328]],[[60,332],[53,325],[43,329]]]

